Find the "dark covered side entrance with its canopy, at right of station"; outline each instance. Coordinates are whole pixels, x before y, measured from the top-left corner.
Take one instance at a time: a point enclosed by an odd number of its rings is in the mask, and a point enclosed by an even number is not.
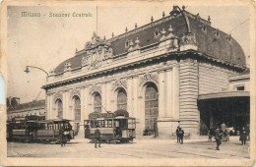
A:
[[[250,123],[249,91],[229,91],[201,94],[198,97],[201,118],[201,135],[209,128],[225,124],[240,131]]]

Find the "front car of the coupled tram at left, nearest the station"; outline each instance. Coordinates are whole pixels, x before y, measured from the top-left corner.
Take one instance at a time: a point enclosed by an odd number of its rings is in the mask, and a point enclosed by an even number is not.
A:
[[[70,120],[66,119],[45,120],[38,122],[35,140],[41,142],[50,141],[51,143],[59,143],[61,139],[61,129],[64,136],[64,141],[74,139],[74,131],[72,130],[72,126],[69,122]]]

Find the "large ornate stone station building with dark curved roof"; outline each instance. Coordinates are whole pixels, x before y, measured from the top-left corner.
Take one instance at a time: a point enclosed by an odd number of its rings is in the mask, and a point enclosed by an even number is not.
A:
[[[210,17],[173,7],[168,16],[109,39],[94,33],[42,86],[46,118],[71,119],[79,129],[92,112],[124,109],[136,118],[137,136],[154,132],[157,123],[160,138],[171,137],[178,125],[196,138],[203,127],[224,121],[218,112],[226,108],[217,110],[216,99],[242,99],[248,115],[245,71],[244,52],[230,34],[213,28]],[[228,109],[228,126],[235,109]]]

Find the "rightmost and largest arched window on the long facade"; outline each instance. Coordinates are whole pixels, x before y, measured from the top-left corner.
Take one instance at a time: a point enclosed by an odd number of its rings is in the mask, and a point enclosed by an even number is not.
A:
[[[156,84],[150,83],[145,91],[145,128],[154,131],[159,116],[158,88]]]

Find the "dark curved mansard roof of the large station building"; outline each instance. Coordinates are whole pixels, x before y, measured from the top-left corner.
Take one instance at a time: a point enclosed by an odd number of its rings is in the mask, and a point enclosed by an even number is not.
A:
[[[125,47],[126,41],[135,42],[139,39],[140,47],[146,47],[154,43],[160,42],[160,37],[156,37],[156,30],[165,31],[168,28],[173,29],[173,34],[181,38],[187,32],[187,25],[191,33],[195,35],[198,51],[203,52],[213,59],[228,62],[241,68],[245,68],[245,56],[238,42],[224,31],[212,28],[209,21],[205,21],[198,16],[192,15],[187,11],[183,14],[187,17],[184,20],[181,14],[164,17],[156,22],[152,22],[141,28],[135,28],[118,36],[105,40],[112,48],[113,56],[125,54],[128,47]],[[100,40],[102,42],[103,39]],[[78,51],[76,55],[62,63],[56,68],[54,73],[61,74],[64,72],[65,64],[70,63],[71,69],[82,67],[82,58],[86,55],[87,47]]]

